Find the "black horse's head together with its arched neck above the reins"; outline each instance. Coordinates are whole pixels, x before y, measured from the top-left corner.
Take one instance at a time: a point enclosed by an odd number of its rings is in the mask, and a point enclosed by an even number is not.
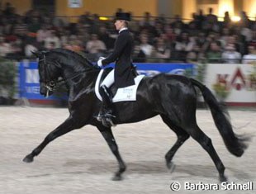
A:
[[[85,73],[99,71],[87,58],[71,50],[55,49],[37,51],[33,54],[39,59],[40,94],[44,96],[53,94],[59,77],[72,87],[78,83],[78,80],[83,79],[84,82]],[[86,78],[91,79],[88,74]]]

